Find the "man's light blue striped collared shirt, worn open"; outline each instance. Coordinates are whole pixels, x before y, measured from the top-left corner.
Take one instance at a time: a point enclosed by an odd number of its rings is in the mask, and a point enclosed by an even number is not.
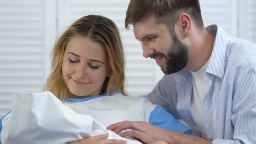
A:
[[[229,37],[216,25],[206,29],[216,39],[205,74],[205,138],[212,144],[256,144],[256,44]],[[200,136],[190,113],[192,91],[192,74],[182,69],[164,75],[147,96]]]

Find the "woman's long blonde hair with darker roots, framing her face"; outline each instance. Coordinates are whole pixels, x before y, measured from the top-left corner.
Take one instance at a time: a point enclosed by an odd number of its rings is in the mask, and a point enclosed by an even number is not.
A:
[[[125,91],[125,61],[122,41],[115,23],[97,15],[84,16],[75,21],[56,41],[52,52],[52,72],[49,75],[44,91],[51,91],[60,100],[72,97],[62,76],[62,62],[64,51],[69,40],[75,36],[89,37],[90,40],[100,43],[107,54],[108,72],[100,94],[109,94],[111,91]]]

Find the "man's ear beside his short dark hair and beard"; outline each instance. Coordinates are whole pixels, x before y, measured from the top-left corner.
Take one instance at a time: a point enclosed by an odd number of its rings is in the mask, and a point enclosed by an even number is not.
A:
[[[179,27],[179,33],[182,37],[186,38],[191,32],[192,20],[187,13],[181,13],[177,21]]]

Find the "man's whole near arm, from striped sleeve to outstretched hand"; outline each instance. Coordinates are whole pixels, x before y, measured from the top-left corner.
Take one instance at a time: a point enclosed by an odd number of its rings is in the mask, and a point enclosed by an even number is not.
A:
[[[256,144],[256,64],[246,67],[235,81],[231,121],[232,139],[203,139],[197,136],[168,131],[145,122],[125,121],[107,127],[121,136],[134,136],[142,141],[166,141],[168,144]],[[224,131],[224,130],[223,130]]]

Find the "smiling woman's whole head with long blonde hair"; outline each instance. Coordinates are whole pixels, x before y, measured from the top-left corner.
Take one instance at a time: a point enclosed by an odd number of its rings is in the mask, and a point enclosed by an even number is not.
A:
[[[44,90],[60,100],[121,90],[126,94],[123,46],[115,23],[96,15],[75,21],[56,41]]]

